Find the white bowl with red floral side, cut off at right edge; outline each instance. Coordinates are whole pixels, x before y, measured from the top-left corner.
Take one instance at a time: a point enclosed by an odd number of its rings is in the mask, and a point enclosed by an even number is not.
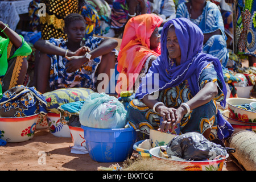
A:
[[[249,104],[255,102],[253,99],[247,98],[228,98],[229,118],[236,119],[238,121],[256,123],[256,112],[245,110],[237,107],[236,105]]]

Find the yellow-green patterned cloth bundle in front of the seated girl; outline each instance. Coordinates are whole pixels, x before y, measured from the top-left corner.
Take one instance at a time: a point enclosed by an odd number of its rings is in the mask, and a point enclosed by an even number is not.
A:
[[[43,96],[47,101],[47,110],[51,113],[59,113],[57,108],[71,102],[84,101],[90,94],[94,93],[86,88],[57,89],[46,92]]]

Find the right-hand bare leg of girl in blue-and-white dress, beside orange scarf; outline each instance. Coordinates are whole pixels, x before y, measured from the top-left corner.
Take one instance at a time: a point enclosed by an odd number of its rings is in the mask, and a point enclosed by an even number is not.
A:
[[[111,69],[115,69],[115,53],[110,52],[101,57],[101,63],[98,65],[98,69],[96,71],[96,75],[100,75],[100,73],[105,73],[107,77],[104,76],[104,80],[97,80],[96,83],[96,92],[105,92],[106,87],[109,84],[111,78]],[[100,77],[98,77],[101,79]],[[101,83],[101,84],[100,84]],[[99,85],[100,84],[100,85]],[[101,88],[98,88],[100,86]]]

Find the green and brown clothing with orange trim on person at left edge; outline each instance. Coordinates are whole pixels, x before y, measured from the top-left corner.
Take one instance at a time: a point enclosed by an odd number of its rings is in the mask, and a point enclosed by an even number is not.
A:
[[[23,58],[32,52],[23,36],[19,36],[22,38],[22,46],[19,48],[13,46],[9,39],[0,36],[0,98],[2,92],[16,86]]]

